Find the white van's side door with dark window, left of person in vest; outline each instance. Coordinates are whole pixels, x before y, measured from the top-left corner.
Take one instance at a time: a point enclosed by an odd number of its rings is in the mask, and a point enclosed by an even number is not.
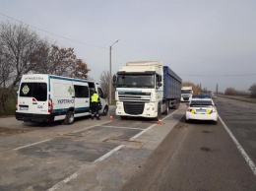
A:
[[[89,115],[90,97],[88,83],[85,81],[73,81],[75,90],[75,116]]]

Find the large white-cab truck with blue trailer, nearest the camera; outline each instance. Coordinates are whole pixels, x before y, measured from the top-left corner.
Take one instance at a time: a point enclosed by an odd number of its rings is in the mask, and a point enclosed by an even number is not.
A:
[[[180,103],[181,79],[160,61],[128,62],[113,76],[115,114],[159,120]]]

